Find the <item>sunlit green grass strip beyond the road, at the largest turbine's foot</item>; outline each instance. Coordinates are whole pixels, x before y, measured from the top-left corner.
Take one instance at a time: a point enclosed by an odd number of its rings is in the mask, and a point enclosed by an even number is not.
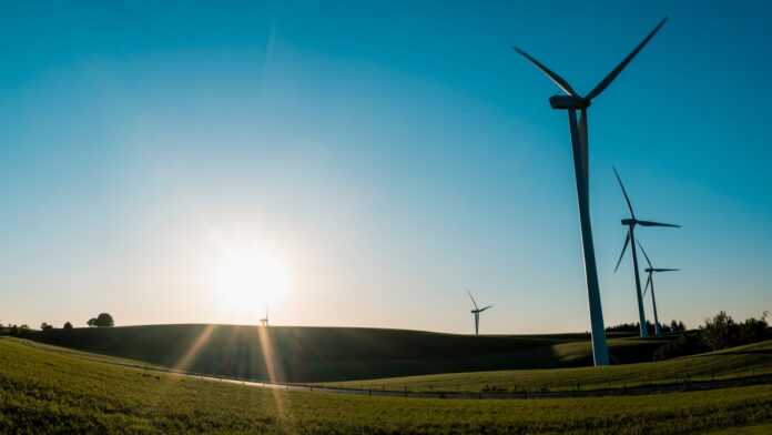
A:
[[[628,340],[610,341],[624,345]],[[576,347],[583,343],[570,343],[556,347]],[[450,373],[426,376],[408,376],[332,383],[329,386],[386,388],[409,391],[507,391],[536,392],[596,390],[638,386],[641,384],[672,384],[683,381],[708,381],[772,374],[772,341],[749,344],[720,352],[687,356],[657,363],[626,364],[603,368],[577,367],[527,371],[492,371]]]

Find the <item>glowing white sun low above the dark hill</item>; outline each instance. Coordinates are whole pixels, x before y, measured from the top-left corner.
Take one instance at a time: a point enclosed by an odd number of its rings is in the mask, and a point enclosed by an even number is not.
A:
[[[287,291],[290,272],[282,256],[257,245],[219,250],[212,259],[209,284],[213,296],[237,317],[250,317]]]

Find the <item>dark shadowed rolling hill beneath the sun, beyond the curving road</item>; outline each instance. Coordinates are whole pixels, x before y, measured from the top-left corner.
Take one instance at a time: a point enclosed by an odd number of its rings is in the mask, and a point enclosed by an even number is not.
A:
[[[54,330],[31,333],[29,337],[196,373],[283,382],[591,364],[587,334],[474,336],[355,327],[194,324]],[[651,361],[661,344],[657,340],[612,340],[611,355],[617,362]]]

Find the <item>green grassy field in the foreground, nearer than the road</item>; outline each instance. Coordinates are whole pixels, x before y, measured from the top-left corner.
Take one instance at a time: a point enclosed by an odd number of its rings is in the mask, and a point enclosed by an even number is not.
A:
[[[405,399],[270,391],[81,356],[0,338],[0,432],[764,433],[772,419],[770,385],[624,397]]]

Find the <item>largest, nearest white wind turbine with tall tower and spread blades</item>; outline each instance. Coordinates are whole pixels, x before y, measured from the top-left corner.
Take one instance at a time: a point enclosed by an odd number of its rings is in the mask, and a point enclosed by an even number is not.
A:
[[[595,89],[585,97],[577,91],[560,75],[550,71],[547,67],[530,57],[525,51],[514,47],[515,51],[522,54],[536,68],[541,70],[555,82],[566,95],[553,95],[549,99],[552,109],[568,111],[568,125],[571,132],[571,149],[573,150],[573,172],[577,180],[577,198],[579,202],[579,224],[581,227],[582,252],[585,255],[585,275],[587,277],[587,296],[590,304],[590,326],[592,333],[592,357],[595,365],[609,365],[609,352],[606,344],[606,331],[603,330],[603,311],[600,305],[600,289],[598,284],[598,271],[595,261],[595,246],[592,244],[592,229],[590,225],[590,198],[589,198],[589,156],[588,156],[588,135],[587,135],[587,108],[590,107],[592,99],[600,95],[608,88],[613,79],[627,67],[632,58],[646,45],[651,38],[664,26],[668,20],[666,17],[652,30],[641,43],[636,47],[627,58],[622,60]],[[577,110],[580,118],[577,122]]]

